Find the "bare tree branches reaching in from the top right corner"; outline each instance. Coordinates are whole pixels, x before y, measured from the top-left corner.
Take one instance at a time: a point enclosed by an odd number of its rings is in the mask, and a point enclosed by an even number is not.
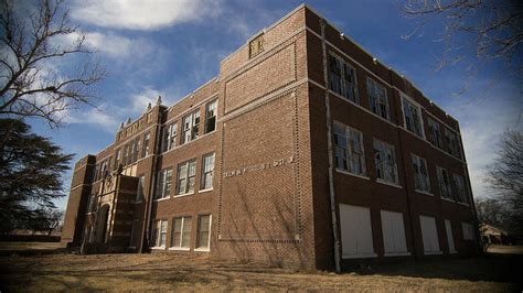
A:
[[[445,48],[438,69],[465,63],[473,77],[489,61],[503,64],[503,75],[523,77],[523,2],[513,0],[407,0],[404,13],[418,25],[405,39],[423,34],[430,22],[442,22],[438,41]],[[476,62],[472,62],[476,61]],[[479,64],[471,66],[471,64]],[[501,77],[500,77],[501,78]],[[470,78],[469,78],[470,82]],[[492,80],[497,82],[497,80]],[[465,85],[463,90],[468,85]]]

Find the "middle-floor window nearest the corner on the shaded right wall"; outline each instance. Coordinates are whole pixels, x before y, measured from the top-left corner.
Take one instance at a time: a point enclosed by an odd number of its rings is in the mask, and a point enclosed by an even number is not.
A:
[[[334,143],[337,169],[365,175],[362,132],[341,123],[334,123]]]

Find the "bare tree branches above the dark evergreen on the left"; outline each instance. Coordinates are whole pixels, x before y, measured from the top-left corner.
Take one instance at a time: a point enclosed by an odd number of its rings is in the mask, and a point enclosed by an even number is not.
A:
[[[90,104],[92,86],[105,69],[92,59],[62,0],[22,3],[0,4],[0,115],[43,118],[56,127],[64,111]]]

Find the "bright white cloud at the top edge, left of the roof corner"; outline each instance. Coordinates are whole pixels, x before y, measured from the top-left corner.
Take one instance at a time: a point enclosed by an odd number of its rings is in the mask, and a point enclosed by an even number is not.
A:
[[[72,9],[79,21],[130,30],[157,30],[217,13],[217,1],[211,0],[84,0]]]

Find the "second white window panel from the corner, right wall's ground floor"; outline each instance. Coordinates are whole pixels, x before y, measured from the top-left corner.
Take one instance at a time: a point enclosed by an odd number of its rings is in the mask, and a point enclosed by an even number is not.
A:
[[[403,214],[382,210],[381,215],[385,256],[408,254]]]

